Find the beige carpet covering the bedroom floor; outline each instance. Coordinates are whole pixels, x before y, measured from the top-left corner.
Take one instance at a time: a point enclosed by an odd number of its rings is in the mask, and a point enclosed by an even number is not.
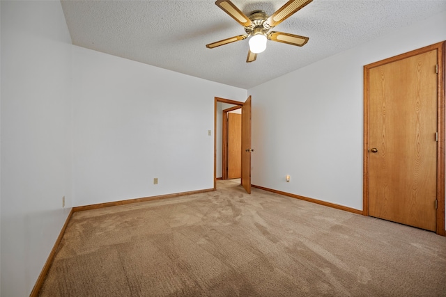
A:
[[[41,296],[446,296],[446,238],[253,189],[77,212]]]

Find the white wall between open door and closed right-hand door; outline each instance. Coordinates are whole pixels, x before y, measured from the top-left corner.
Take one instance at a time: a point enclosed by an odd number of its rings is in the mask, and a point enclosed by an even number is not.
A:
[[[443,12],[248,90],[252,184],[362,210],[363,66],[446,40],[445,28]]]

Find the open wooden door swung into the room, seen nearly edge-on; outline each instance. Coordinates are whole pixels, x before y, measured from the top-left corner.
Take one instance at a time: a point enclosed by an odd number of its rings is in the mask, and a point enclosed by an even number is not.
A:
[[[242,106],[242,186],[251,193],[251,96]]]

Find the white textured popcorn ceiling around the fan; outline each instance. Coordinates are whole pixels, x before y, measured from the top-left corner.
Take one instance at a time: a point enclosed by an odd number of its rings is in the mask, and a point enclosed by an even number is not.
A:
[[[246,63],[247,40],[206,48],[245,33],[214,2],[61,1],[74,45],[245,89],[446,10],[446,0],[314,0],[274,29],[308,36],[307,45],[268,41]],[[271,15],[286,0],[232,2]]]

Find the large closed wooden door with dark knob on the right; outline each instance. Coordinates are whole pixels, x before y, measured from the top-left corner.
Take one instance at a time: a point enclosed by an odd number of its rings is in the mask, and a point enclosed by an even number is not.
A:
[[[369,68],[369,215],[436,230],[437,50]]]

